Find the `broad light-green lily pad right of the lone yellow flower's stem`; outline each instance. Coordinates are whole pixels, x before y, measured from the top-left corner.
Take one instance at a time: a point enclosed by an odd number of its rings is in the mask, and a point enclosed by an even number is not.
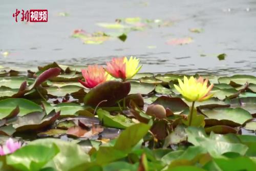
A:
[[[202,110],[202,112],[210,119],[230,120],[239,124],[243,124],[251,119],[251,114],[242,108],[217,108],[214,110]]]

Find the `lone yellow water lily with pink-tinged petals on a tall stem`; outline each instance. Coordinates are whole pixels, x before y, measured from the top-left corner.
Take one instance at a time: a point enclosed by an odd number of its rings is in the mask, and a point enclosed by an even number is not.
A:
[[[184,76],[184,82],[180,79],[178,81],[179,86],[175,84],[174,87],[187,101],[204,101],[213,96],[213,94],[210,94],[210,91],[214,84],[207,86],[208,79],[204,81],[202,77],[196,79],[191,76],[188,79]]]

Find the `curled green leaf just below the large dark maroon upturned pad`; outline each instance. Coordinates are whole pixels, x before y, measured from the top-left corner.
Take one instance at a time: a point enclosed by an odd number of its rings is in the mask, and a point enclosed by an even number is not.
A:
[[[126,118],[121,114],[110,115],[108,111],[104,111],[99,109],[97,111],[97,115],[99,120],[103,123],[104,126],[116,127],[119,129],[125,129],[134,124],[134,122],[130,118]]]

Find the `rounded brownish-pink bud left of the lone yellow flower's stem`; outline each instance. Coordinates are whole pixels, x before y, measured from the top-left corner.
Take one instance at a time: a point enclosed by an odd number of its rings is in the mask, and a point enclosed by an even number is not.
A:
[[[146,114],[155,116],[158,119],[166,118],[166,111],[160,104],[151,104],[147,107]]]

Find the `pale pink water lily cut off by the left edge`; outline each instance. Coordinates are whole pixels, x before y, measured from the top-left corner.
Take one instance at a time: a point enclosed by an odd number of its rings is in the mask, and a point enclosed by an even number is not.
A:
[[[0,146],[0,156],[11,154],[11,153],[15,152],[17,149],[19,149],[20,147],[22,147],[21,142],[19,142],[19,141],[14,142],[12,138],[9,138],[6,141],[5,145]]]

